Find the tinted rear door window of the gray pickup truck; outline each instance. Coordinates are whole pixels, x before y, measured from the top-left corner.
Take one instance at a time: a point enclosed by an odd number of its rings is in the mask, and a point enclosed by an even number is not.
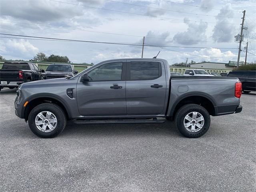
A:
[[[153,80],[162,75],[160,62],[129,62],[128,80]]]

